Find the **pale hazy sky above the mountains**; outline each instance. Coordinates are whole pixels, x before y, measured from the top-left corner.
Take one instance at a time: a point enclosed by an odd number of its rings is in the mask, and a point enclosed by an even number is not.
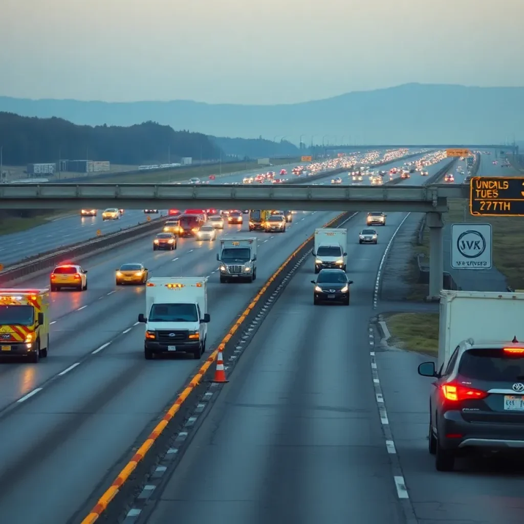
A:
[[[271,104],[524,85],[524,0],[1,0],[1,12],[0,95]]]

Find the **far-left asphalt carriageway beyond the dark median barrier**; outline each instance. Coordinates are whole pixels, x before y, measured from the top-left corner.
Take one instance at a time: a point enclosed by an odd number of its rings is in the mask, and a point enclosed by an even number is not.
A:
[[[359,155],[362,157],[363,155]],[[302,162],[302,165],[304,162]],[[268,170],[280,171],[282,166],[264,167],[260,166],[259,170],[241,171],[222,176],[213,181],[211,184],[223,183],[242,183],[244,177],[255,176],[259,172]],[[292,167],[288,166],[290,171]],[[299,178],[297,181],[301,181]],[[60,247],[75,244],[77,242],[87,241],[96,236],[96,231],[100,229],[103,234],[113,233],[127,227],[132,227],[139,223],[144,223],[147,216],[140,210],[127,210],[119,220],[102,221],[102,211],[99,210],[97,216],[82,217],[79,215],[64,216],[55,219],[47,224],[31,228],[30,230],[2,235],[0,245],[0,264],[7,266],[27,257],[36,256],[40,253],[47,253]],[[167,214],[167,210],[159,210],[161,214]],[[80,212],[80,210],[79,210]],[[151,215],[153,218],[158,215]]]

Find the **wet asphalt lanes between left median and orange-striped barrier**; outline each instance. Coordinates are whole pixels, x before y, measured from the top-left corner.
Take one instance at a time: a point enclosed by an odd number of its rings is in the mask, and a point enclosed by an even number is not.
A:
[[[175,252],[164,253],[153,252],[146,238],[86,260],[89,289],[51,295],[49,357],[37,365],[0,367],[0,438],[9,450],[0,463],[3,520],[41,524],[45,516],[67,522],[200,365],[181,356],[145,361],[144,328],[136,323],[144,312],[144,289],[116,288],[115,269],[137,261],[152,276],[210,276],[211,349],[279,264],[335,215],[298,213],[285,234],[257,234],[258,278],[250,284],[220,285],[216,247],[192,239],[180,239]],[[384,241],[401,215],[388,219]],[[245,226],[228,231],[239,229]],[[370,256],[377,248],[365,247],[362,253]],[[24,282],[47,285],[45,276]]]

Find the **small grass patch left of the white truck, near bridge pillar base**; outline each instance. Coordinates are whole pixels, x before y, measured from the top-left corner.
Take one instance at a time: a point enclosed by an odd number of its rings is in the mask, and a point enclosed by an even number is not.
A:
[[[385,315],[390,346],[434,355],[439,350],[439,313],[391,313]]]

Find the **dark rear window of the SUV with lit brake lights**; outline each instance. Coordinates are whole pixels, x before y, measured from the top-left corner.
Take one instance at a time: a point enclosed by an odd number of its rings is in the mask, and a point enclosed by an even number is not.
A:
[[[524,380],[524,355],[505,353],[498,349],[468,350],[462,355],[459,375],[489,382],[514,383]]]

